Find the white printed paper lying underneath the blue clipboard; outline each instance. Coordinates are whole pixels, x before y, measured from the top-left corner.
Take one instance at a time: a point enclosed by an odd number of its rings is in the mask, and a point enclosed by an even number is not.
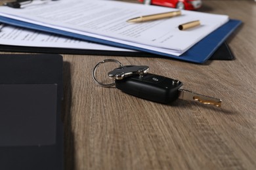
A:
[[[125,48],[116,48],[96,44],[93,42],[81,41],[70,37],[64,37],[53,33],[45,33],[33,29],[3,25],[0,31],[0,44],[12,46],[32,46],[47,48],[72,48],[81,50],[110,50],[110,51],[129,51]],[[134,51],[133,51],[134,52]]]

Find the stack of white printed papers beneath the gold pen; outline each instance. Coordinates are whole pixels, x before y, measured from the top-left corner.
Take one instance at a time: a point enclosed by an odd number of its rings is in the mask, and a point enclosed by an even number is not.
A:
[[[47,1],[24,9],[0,7],[0,15],[180,56],[196,42],[228,22],[228,16],[182,10],[181,16],[144,23],[127,23],[138,16],[177,9],[104,0]],[[180,31],[178,25],[200,20],[199,27]]]

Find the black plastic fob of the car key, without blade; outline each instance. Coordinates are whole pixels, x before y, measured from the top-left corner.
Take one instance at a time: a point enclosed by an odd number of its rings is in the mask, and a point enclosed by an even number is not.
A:
[[[181,86],[182,82],[179,80],[150,73],[116,80],[117,89],[158,103],[171,103],[176,100]]]

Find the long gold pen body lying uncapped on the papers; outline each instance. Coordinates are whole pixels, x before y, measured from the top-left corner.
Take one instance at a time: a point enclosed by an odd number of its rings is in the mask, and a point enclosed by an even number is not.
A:
[[[171,18],[173,16],[179,16],[179,15],[181,15],[181,10],[177,10],[173,12],[164,12],[160,14],[139,16],[137,18],[132,18],[130,20],[127,20],[127,22],[146,22],[146,21],[152,21],[152,20],[160,20],[163,18]]]

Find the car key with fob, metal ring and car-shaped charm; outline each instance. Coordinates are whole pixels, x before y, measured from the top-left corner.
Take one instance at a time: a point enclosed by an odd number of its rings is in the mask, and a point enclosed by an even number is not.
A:
[[[108,76],[114,79],[111,84],[103,84],[96,80],[96,69],[100,64],[106,62],[116,62],[119,67],[110,71]],[[182,82],[165,76],[153,75],[148,73],[149,67],[146,65],[125,65],[123,66],[116,59],[104,59],[97,63],[93,69],[93,80],[102,87],[116,88],[131,95],[156,101],[158,103],[171,103],[176,99],[199,101],[203,104],[221,107],[221,99],[201,95],[182,89]]]

